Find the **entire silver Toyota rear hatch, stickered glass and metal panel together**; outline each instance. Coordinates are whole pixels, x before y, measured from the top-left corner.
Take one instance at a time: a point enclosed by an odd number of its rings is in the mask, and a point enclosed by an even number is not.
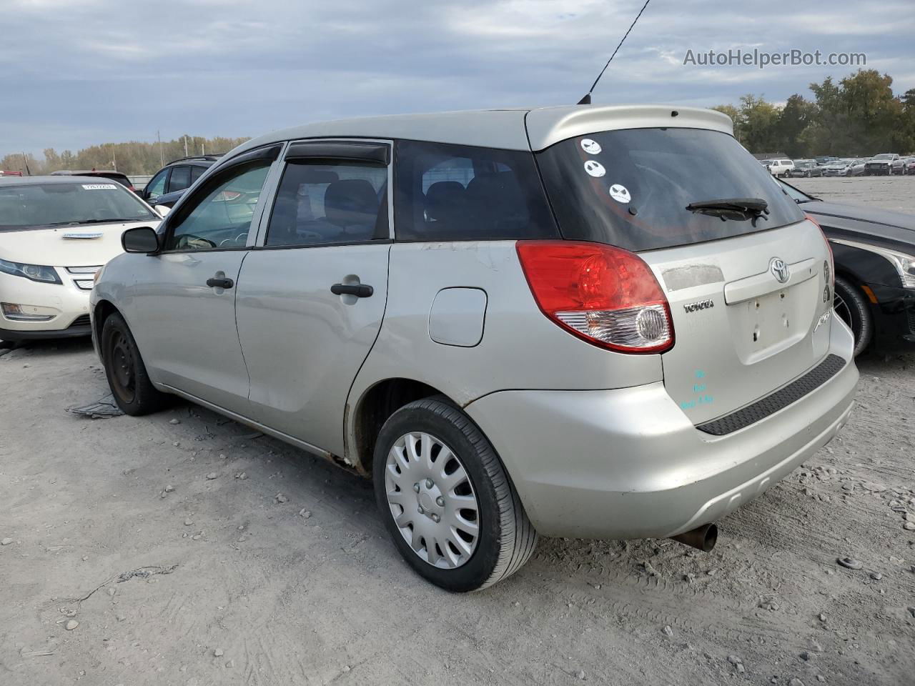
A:
[[[663,114],[653,128],[643,116],[643,128],[568,138],[537,160],[565,239],[619,246],[650,265],[673,319],[664,383],[698,424],[823,359],[829,252],[818,227],[727,130],[699,114]],[[608,113],[607,123],[618,116]]]

